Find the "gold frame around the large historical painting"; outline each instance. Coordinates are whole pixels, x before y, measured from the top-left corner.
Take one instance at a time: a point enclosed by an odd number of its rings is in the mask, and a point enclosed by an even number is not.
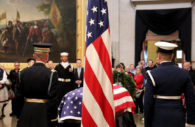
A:
[[[81,59],[82,65],[84,65],[85,52],[85,14],[85,0],[76,0],[76,59]],[[6,70],[14,68],[14,63],[1,62],[0,64],[3,65]],[[73,65],[75,65],[75,63],[73,63]],[[27,67],[27,63],[20,63],[21,69],[25,67]]]

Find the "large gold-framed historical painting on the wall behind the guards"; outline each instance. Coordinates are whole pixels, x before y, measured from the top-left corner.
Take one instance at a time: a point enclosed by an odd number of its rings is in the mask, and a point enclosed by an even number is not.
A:
[[[84,0],[0,0],[0,62],[7,68],[32,57],[33,43],[52,43],[50,60],[84,56]]]

